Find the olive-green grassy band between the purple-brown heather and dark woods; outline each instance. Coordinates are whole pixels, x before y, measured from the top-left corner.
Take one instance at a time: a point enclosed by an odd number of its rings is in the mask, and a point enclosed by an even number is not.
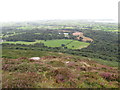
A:
[[[4,58],[11,58],[11,59],[17,59],[20,57],[41,57],[41,56],[61,56],[61,55],[62,56],[73,56],[73,57],[81,58],[81,59],[88,59],[87,57],[82,57],[82,56],[61,54],[61,53],[55,53],[55,52],[53,53],[53,52],[40,51],[40,50],[16,50],[16,49],[3,49],[2,50],[2,56]],[[103,65],[118,67],[117,62],[105,61],[102,59],[91,59],[91,60],[101,63]]]

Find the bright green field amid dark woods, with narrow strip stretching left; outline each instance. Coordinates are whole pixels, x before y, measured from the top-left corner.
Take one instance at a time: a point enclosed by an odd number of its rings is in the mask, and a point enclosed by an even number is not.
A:
[[[71,39],[60,39],[60,40],[36,40],[35,42],[24,42],[24,41],[5,41],[3,43],[11,43],[11,44],[35,44],[35,43],[44,43],[45,46],[48,47],[61,47],[61,44],[66,45],[69,49],[81,49],[87,47],[90,43],[86,42],[80,42],[77,40],[71,40]]]

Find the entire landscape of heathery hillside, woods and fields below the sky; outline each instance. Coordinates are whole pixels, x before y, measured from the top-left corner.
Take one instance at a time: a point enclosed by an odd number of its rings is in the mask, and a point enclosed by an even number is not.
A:
[[[118,35],[116,23],[4,23],[2,87],[118,88]]]

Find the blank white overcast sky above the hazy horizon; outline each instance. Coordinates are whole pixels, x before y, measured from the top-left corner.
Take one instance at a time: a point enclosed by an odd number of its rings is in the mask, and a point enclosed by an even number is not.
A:
[[[0,0],[0,22],[118,19],[119,0]]]

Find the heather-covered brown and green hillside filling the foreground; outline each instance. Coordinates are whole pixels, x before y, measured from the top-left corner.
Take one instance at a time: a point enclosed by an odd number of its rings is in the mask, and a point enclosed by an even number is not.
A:
[[[2,60],[3,87],[118,87],[116,68],[96,63],[88,58],[55,52],[14,49],[3,49],[3,56],[6,56]],[[41,60],[30,61],[28,59],[35,56],[41,57]],[[68,61],[69,63],[66,63]]]

